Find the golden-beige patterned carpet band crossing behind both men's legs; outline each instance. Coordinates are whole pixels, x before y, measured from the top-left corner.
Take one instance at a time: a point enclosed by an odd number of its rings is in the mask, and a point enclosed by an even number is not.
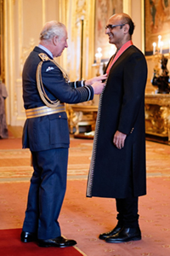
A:
[[[0,182],[30,180],[32,173],[30,151],[21,149],[20,139],[13,140],[13,143],[14,141],[15,149],[0,149]],[[6,142],[8,143],[8,140]],[[10,148],[10,143],[8,143],[8,148]],[[68,180],[87,179],[92,148],[93,140],[71,138]],[[146,142],[147,177],[170,176],[169,155],[170,146]]]

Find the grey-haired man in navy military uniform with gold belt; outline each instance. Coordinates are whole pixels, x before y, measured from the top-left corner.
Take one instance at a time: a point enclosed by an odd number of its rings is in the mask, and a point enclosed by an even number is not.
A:
[[[64,102],[90,101],[104,87],[101,80],[105,75],[68,83],[65,70],[54,61],[67,47],[65,25],[49,21],[23,69],[27,118],[23,148],[31,150],[34,172],[20,238],[23,242],[38,240],[40,247],[69,247],[77,243],[61,236],[58,222],[70,143]]]

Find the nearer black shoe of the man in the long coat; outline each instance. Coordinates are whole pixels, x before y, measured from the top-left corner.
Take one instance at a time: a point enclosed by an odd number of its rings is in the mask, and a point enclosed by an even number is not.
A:
[[[124,242],[141,240],[141,232],[138,228],[123,228],[114,236],[109,236],[105,239],[107,242]]]

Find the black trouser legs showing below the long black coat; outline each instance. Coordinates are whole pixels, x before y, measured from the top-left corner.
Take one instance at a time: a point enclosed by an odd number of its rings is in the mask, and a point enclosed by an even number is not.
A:
[[[133,195],[123,199],[116,198],[118,224],[126,228],[136,228],[139,226],[138,199],[138,197]]]

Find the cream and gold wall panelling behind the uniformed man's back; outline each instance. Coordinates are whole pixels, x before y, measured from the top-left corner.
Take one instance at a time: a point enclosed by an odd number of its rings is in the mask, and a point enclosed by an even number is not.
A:
[[[59,20],[59,0],[4,0],[5,84],[8,90],[8,125],[23,125],[26,119],[22,100],[21,73],[26,57],[39,42],[39,33],[48,20]],[[62,20],[61,20],[62,21]],[[64,57],[62,57],[64,58]],[[60,58],[59,61],[62,61]]]

